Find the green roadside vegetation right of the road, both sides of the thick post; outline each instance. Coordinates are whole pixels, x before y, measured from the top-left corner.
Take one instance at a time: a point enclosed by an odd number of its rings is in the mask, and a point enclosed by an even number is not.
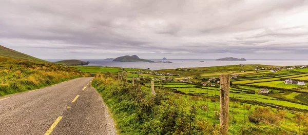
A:
[[[102,78],[94,79],[92,86],[97,88],[111,110],[120,134],[220,134],[219,88],[156,82],[157,94],[152,96],[149,83],[137,82],[133,86],[114,80],[113,75],[106,73]],[[303,115],[308,106],[249,93],[251,89],[258,88],[230,88],[230,134],[308,132],[308,117]],[[297,95],[286,94],[287,97]]]

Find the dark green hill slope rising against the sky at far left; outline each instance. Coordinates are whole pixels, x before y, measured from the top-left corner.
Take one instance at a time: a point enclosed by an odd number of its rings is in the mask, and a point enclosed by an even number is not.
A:
[[[38,59],[36,57],[6,48],[4,46],[0,45],[0,57],[10,57],[13,59],[23,59],[23,60],[32,60],[32,61],[38,61],[38,62],[47,62],[41,59]]]

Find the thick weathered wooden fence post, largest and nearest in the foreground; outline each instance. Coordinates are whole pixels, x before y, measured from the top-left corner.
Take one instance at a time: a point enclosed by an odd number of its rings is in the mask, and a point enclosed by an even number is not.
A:
[[[220,132],[228,134],[230,75],[220,75]]]

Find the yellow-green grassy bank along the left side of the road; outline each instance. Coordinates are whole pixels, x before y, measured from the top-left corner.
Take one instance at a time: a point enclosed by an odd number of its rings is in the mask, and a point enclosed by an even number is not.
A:
[[[0,96],[87,76],[74,68],[0,57]]]

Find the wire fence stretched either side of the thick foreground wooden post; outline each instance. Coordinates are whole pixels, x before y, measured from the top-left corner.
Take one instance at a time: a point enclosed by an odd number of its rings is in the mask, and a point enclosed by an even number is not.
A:
[[[164,89],[156,84],[155,89]],[[167,87],[169,88],[169,87]],[[219,90],[200,88],[177,88],[188,96],[197,96],[198,115],[213,125],[219,126]],[[172,92],[171,92],[172,93]],[[259,101],[241,93],[230,92],[229,134],[307,134],[308,115],[278,105]],[[178,96],[183,100],[183,96]],[[240,100],[240,101],[239,101]],[[192,102],[188,104],[193,105]],[[242,102],[247,101],[247,102]],[[253,104],[249,102],[253,101]],[[278,101],[279,102],[279,101]]]

